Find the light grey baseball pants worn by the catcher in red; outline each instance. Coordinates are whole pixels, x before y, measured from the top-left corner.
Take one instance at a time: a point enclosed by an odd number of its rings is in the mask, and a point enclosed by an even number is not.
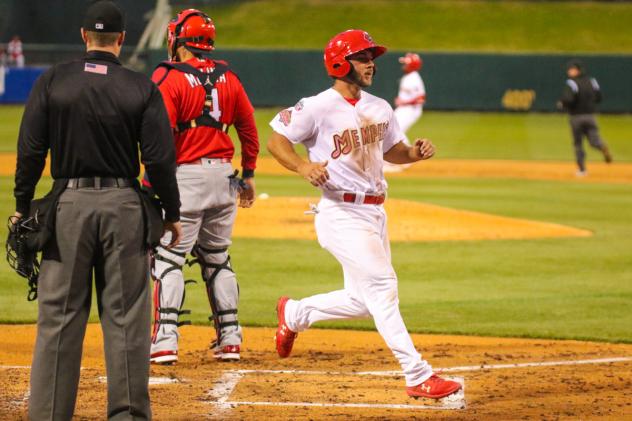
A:
[[[232,241],[232,230],[237,213],[237,186],[229,178],[233,174],[230,163],[216,163],[215,159],[203,158],[202,165],[180,165],[176,177],[180,190],[180,220],[182,223],[182,239],[172,249],[159,248],[158,254],[179,267],[172,268],[172,263],[155,260],[154,275],[160,277],[160,290],[154,297],[155,307],[180,309],[184,297],[184,276],[181,267],[185,264],[186,255],[198,244],[206,249],[227,249]],[[166,246],[171,241],[171,233],[163,236],[161,243]],[[202,260],[221,263],[228,257],[228,252],[208,254]],[[220,259],[214,261],[213,259]],[[166,274],[161,277],[162,273]],[[206,281],[206,279],[204,279]],[[209,285],[207,285],[207,288]],[[221,270],[212,285],[213,300],[219,310],[237,309],[239,287],[232,271]],[[155,292],[154,292],[155,294]],[[155,294],[156,295],[156,294]],[[158,302],[156,302],[158,301]],[[215,316],[236,320],[233,315]],[[169,323],[158,324],[151,345],[151,353],[178,349],[178,314],[162,314],[161,320]],[[220,320],[221,321],[221,320]],[[219,339],[219,338],[218,338]],[[241,344],[241,327],[230,326],[223,329],[219,345]]]

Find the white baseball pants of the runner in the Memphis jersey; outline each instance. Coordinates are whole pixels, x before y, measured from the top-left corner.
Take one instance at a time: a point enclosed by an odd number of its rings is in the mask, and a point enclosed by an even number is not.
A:
[[[323,198],[315,225],[320,245],[342,265],[344,289],[288,301],[288,327],[302,332],[321,320],[372,316],[402,367],[406,385],[424,382],[432,367],[415,349],[399,312],[384,207]]]

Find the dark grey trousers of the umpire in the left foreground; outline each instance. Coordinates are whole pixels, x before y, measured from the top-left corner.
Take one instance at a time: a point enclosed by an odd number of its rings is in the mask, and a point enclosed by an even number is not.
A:
[[[55,225],[57,241],[44,252],[39,278],[29,417],[72,418],[94,276],[107,417],[151,419],[151,295],[138,194],[132,188],[68,189],[60,197]]]

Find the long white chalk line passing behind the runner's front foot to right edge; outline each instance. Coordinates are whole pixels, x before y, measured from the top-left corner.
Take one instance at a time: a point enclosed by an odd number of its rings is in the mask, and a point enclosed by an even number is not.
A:
[[[540,361],[531,363],[515,364],[481,364],[466,365],[460,367],[447,367],[436,369],[437,372],[451,373],[457,371],[481,371],[481,370],[501,370],[508,368],[525,367],[551,367],[560,365],[582,365],[582,364],[608,364],[632,361],[632,357],[598,358],[594,360],[567,360],[567,361]],[[401,371],[310,371],[310,370],[234,370],[240,374],[306,374],[306,375],[337,375],[337,376],[384,376],[402,377]]]

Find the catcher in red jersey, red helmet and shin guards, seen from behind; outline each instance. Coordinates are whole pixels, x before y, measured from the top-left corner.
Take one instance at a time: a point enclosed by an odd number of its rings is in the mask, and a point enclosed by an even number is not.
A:
[[[172,249],[158,247],[153,256],[155,323],[151,361],[178,359],[178,326],[185,282],[182,266],[191,253],[202,279],[215,325],[215,357],[239,360],[242,342],[237,319],[239,286],[228,247],[239,206],[255,200],[254,170],[259,138],[254,109],[228,64],[206,55],[214,49],[215,26],[204,13],[184,10],[169,23],[169,61],[152,76],[162,93],[175,133],[183,237]],[[234,125],[241,142],[243,181],[231,165],[234,154],[228,129]],[[151,181],[151,180],[150,180]],[[169,243],[166,236],[162,244]]]

